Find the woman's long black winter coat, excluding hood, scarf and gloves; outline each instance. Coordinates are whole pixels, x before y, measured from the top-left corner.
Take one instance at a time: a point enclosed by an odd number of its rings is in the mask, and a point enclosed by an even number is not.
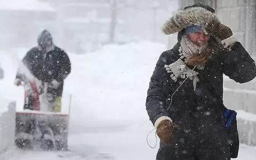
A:
[[[150,121],[154,125],[157,118],[169,116],[181,126],[174,133],[172,146],[160,143],[157,159],[190,159],[189,155],[194,153],[207,155],[202,159],[229,159],[229,154],[223,155],[229,153],[222,117],[225,108],[222,100],[223,74],[238,83],[249,82],[256,76],[255,62],[242,44],[236,42],[228,53],[214,54],[204,70],[195,69],[199,72],[199,82],[194,91],[190,79],[181,85],[184,79],[179,77],[174,82],[164,68],[164,65],[180,58],[179,46],[177,43],[173,49],[161,54],[149,83],[146,109]],[[180,85],[167,110],[171,95]]]

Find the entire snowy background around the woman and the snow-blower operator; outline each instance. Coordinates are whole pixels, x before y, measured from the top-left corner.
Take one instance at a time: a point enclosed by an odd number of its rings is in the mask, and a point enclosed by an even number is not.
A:
[[[158,145],[151,149],[146,141],[154,129],[145,107],[148,84],[159,55],[177,43],[177,34],[166,36],[161,26],[197,2],[212,6],[256,60],[256,0],[1,0],[0,159],[155,159]],[[63,92],[63,99],[73,97],[68,153],[13,148],[13,111],[23,100],[13,81],[43,29],[71,61]],[[254,159],[256,79],[224,80],[224,103],[238,113],[237,159]],[[155,140],[151,132],[151,146]]]

